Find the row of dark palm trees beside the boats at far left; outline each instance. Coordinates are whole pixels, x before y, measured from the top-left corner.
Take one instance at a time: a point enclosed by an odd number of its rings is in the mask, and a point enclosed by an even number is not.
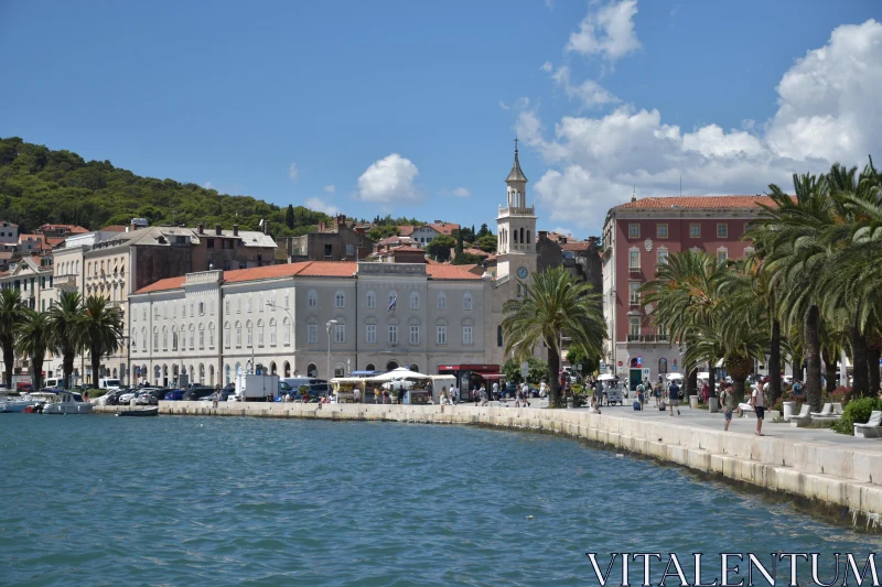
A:
[[[122,344],[122,312],[107,298],[83,298],[78,292],[62,292],[46,312],[34,311],[15,289],[0,291],[0,348],[6,365],[7,389],[12,389],[15,356],[31,362],[34,389],[42,387],[43,361],[47,352],[62,357],[65,385],[72,381],[74,357],[88,352],[93,384],[97,383],[101,357]]]

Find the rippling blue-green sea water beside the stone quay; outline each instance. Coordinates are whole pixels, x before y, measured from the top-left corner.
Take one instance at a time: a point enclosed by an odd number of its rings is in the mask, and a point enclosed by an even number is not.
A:
[[[585,552],[882,550],[529,433],[15,414],[0,446],[3,585],[593,585]]]

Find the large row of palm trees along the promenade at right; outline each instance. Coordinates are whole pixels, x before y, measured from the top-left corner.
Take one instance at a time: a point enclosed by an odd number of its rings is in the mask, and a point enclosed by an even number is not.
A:
[[[722,359],[736,392],[753,360],[768,360],[771,401],[781,395],[781,363],[806,363],[807,399],[821,406],[836,387],[842,352],[853,368],[853,392],[879,390],[882,354],[882,176],[839,164],[827,174],[794,174],[794,193],[771,185],[744,238],[754,252],[718,262],[704,252],[675,253],[644,285],[642,303],[656,326],[686,348],[695,387],[697,366]],[[713,378],[711,378],[713,379]],[[713,382],[711,381],[711,385]]]

